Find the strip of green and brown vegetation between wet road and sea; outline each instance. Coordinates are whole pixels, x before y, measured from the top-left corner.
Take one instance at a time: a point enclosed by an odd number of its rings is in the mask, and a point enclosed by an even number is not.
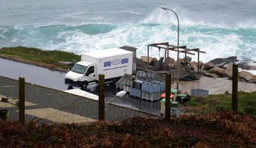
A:
[[[0,56],[9,59],[20,60],[35,65],[59,70],[67,70],[69,65],[59,61],[78,62],[80,55],[65,51],[44,51],[33,47],[3,47]]]

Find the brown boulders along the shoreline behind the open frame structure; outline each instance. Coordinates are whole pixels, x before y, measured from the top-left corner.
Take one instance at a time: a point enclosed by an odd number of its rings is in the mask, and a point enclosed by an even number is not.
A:
[[[177,70],[177,61],[171,57],[168,57],[168,67],[169,70]],[[137,67],[147,68],[147,56],[142,56],[137,58]],[[185,63],[186,61],[186,63]],[[192,61],[192,58],[187,56],[187,59],[179,59],[180,68],[184,68],[187,65],[186,71],[190,73],[190,77],[194,75],[204,75],[212,78],[228,78],[232,79],[233,76],[233,64],[237,64],[239,67],[238,79],[242,82],[256,83],[256,75],[248,72],[248,70],[256,70],[256,66],[250,65],[255,61],[250,60],[238,60],[236,56],[228,58],[218,58],[210,60],[207,63]],[[167,64],[167,60],[164,61],[163,57],[160,60],[155,57],[149,58],[149,70],[153,71],[162,71],[164,70],[164,63]],[[199,67],[198,67],[199,65]],[[199,68],[199,73],[198,73]],[[194,76],[195,77],[195,76]],[[179,77],[181,80],[184,78],[184,75]],[[193,79],[191,79],[193,80]],[[194,80],[197,80],[194,78]]]

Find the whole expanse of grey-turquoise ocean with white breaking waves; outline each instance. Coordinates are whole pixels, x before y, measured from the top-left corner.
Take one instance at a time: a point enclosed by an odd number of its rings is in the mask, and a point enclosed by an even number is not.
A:
[[[177,12],[180,45],[206,51],[203,62],[231,55],[256,60],[255,0],[1,0],[0,47],[81,54],[127,45],[137,47],[140,57],[147,54],[147,44],[177,43],[176,17],[160,6]],[[159,54],[150,49],[151,56]]]

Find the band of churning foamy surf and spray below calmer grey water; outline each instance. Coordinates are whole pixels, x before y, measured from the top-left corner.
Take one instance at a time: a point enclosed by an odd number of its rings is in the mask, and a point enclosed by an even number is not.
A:
[[[75,12],[73,15],[83,15],[83,13],[85,12]],[[123,13],[136,14],[137,12],[124,11]],[[98,17],[96,19],[101,20],[102,18]],[[206,51],[207,54],[200,55],[200,60],[203,62],[208,62],[208,60],[218,57],[229,57],[231,55],[237,55],[238,59],[256,59],[256,52],[254,50],[256,47],[255,35],[243,36],[241,33],[237,33],[236,30],[224,29],[224,25],[194,22],[194,20],[187,19],[183,15],[181,15],[180,19],[180,45],[186,45],[189,48],[199,47],[202,51]],[[42,49],[62,49],[76,54],[95,49],[107,49],[128,45],[139,48],[137,51],[138,57],[140,55],[147,55],[147,44],[163,41],[168,41],[174,45],[177,43],[176,17],[174,14],[161,9],[154,10],[139,23],[114,25],[113,30],[111,28],[104,31],[104,33],[93,35],[89,35],[86,31],[82,30],[83,28],[87,28],[86,26],[80,26],[88,24],[90,24],[89,26],[97,26],[100,24],[108,27],[108,25],[113,24],[80,22],[63,25],[58,23],[33,26],[17,25],[14,27],[14,32],[17,31],[17,33],[6,38],[10,38],[10,41],[15,42],[19,42],[20,40],[23,46],[28,45]],[[254,22],[248,22],[248,24],[251,26]],[[246,26],[240,24],[240,27],[245,28]],[[49,29],[49,33],[53,30],[60,31],[48,35],[44,32],[45,28]],[[40,31],[40,29],[43,31]],[[101,29],[104,30],[102,27],[99,28],[99,30]],[[97,28],[93,28],[93,30],[97,30]],[[12,31],[10,30],[10,32]],[[163,56],[163,52],[160,54]],[[152,52],[150,49],[150,55],[159,57],[158,49],[152,49]],[[171,52],[170,55],[176,58],[176,52]],[[192,59],[197,60],[197,56],[192,56]]]

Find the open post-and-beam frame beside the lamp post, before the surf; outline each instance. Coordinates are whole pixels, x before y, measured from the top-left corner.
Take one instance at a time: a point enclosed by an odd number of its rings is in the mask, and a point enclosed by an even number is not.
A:
[[[157,47],[158,49],[164,49],[164,70],[168,71],[169,67],[168,67],[168,63],[169,63],[169,51],[177,51],[177,46],[171,45],[168,42],[164,42],[164,43],[153,43],[153,44],[148,44],[148,62],[147,62],[147,69],[148,69],[148,65],[149,65],[149,48],[151,47]],[[190,55],[195,55],[192,52],[197,52],[197,66],[198,66],[198,73],[199,73],[199,54],[203,53],[205,54],[205,51],[200,51],[199,48],[195,48],[195,49],[189,49],[187,48],[187,46],[179,46],[179,53],[184,53],[185,54],[185,70],[187,69],[187,54]],[[167,63],[167,64],[166,64]],[[177,64],[179,64],[179,62],[177,62]]]

